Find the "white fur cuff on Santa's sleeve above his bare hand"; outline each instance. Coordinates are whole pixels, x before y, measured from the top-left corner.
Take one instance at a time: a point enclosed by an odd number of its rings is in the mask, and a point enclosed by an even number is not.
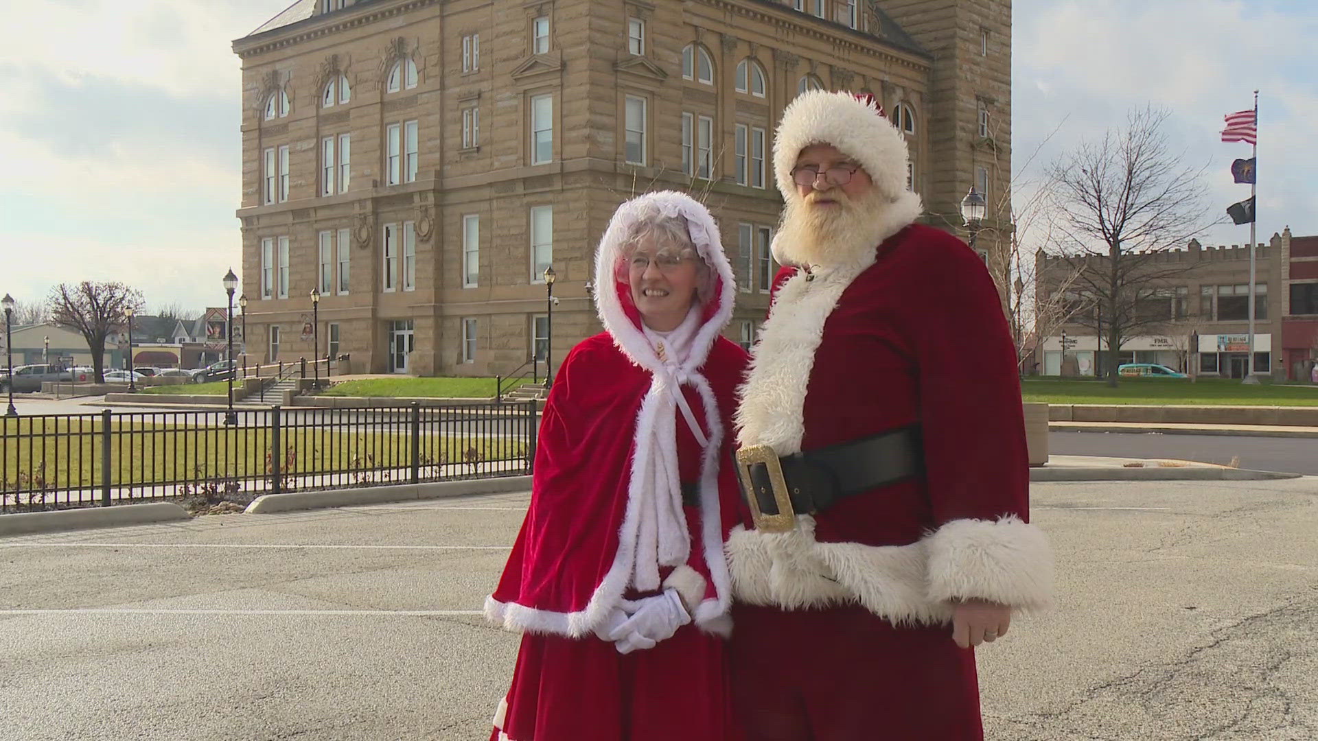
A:
[[[1021,610],[1052,604],[1048,537],[1019,517],[954,519],[925,538],[929,599],[979,599]]]

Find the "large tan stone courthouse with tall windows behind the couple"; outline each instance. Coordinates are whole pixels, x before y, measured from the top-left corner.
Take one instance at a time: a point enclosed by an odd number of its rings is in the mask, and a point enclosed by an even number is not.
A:
[[[800,91],[873,92],[925,220],[961,229],[1011,171],[1008,0],[299,0],[243,65],[243,293],[253,361],[510,373],[600,330],[593,252],[650,190],[702,199],[749,344],[776,265],[774,125]]]

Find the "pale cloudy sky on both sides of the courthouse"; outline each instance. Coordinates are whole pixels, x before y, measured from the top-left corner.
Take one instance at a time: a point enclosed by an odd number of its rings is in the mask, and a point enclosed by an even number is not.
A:
[[[239,59],[229,49],[287,0],[13,3],[0,29],[0,294],[120,280],[148,307],[223,303],[240,265]],[[1189,163],[1211,162],[1219,210],[1248,196],[1222,116],[1260,94],[1259,237],[1318,233],[1318,3],[1017,0],[1014,153],[1037,170],[1130,108],[1172,112]],[[50,40],[59,40],[51,44]],[[1024,190],[1024,187],[1023,187]],[[1247,227],[1210,231],[1240,244]]]

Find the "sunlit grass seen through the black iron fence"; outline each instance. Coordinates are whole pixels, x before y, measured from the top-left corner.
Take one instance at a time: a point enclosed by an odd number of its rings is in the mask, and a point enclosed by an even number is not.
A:
[[[20,418],[0,421],[0,489],[63,490],[101,483],[100,422]],[[202,483],[269,471],[268,429],[116,425],[111,436],[111,483]],[[370,471],[409,465],[407,432],[352,432],[335,429],[285,429],[283,471],[290,476]],[[507,460],[526,454],[511,438],[476,438],[422,432],[420,463]]]

